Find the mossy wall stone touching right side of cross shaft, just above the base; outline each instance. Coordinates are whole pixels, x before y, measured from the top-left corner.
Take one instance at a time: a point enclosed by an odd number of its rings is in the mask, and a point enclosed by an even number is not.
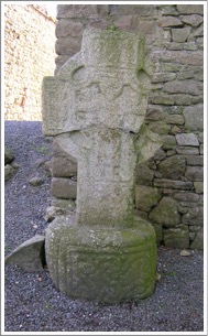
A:
[[[135,206],[138,209],[149,212],[162,197],[161,191],[155,187],[136,185]]]

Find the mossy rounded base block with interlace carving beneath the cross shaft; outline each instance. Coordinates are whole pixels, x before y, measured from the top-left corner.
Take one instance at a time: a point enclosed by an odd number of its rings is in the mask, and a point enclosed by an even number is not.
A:
[[[58,217],[46,229],[46,261],[58,290],[72,297],[116,303],[144,299],[155,286],[155,231],[135,217],[132,228],[77,225]]]

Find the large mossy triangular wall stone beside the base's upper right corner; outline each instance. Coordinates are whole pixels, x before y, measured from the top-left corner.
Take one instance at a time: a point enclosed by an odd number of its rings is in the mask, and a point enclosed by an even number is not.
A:
[[[165,227],[176,226],[180,223],[178,213],[178,203],[172,197],[165,196],[150,213],[149,218],[154,223],[162,224]]]

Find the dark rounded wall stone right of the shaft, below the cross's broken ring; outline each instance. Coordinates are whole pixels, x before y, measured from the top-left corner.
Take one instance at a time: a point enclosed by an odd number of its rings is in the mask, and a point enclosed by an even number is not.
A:
[[[186,162],[180,155],[167,158],[158,164],[158,171],[163,177],[171,180],[177,180],[184,175],[185,169]]]

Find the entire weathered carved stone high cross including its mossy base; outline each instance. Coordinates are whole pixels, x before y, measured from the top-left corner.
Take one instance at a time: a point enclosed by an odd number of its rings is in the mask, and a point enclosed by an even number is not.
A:
[[[77,212],[46,230],[58,289],[117,302],[155,283],[155,234],[133,216],[134,170],[158,149],[143,121],[150,91],[144,37],[87,30],[81,51],[43,82],[43,131],[78,162]]]

